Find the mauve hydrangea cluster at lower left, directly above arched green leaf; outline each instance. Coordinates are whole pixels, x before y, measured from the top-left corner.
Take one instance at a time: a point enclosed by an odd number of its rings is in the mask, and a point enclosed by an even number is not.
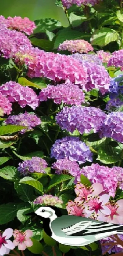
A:
[[[32,159],[25,160],[22,163],[19,163],[17,170],[20,174],[27,176],[30,173],[45,173],[45,168],[47,168],[48,163],[37,156],[33,156]]]

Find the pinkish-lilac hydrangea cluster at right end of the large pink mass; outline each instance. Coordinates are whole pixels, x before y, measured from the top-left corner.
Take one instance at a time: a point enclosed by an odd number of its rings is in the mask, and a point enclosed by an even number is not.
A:
[[[97,65],[85,62],[84,68],[87,69],[88,78],[86,84],[83,86],[83,90],[90,91],[92,89],[98,89],[102,94],[109,91],[110,76],[102,65]]]

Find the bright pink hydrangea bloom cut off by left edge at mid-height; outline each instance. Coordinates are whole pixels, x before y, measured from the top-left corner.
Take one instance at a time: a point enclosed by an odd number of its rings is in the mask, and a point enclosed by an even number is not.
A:
[[[10,101],[0,93],[0,116],[3,116],[4,114],[9,115],[12,111],[12,104]]]

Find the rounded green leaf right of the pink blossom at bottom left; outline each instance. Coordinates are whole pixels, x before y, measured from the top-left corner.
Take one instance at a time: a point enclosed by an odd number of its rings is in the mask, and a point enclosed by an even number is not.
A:
[[[34,238],[31,237],[31,240],[33,242],[33,245],[31,247],[27,247],[27,249],[29,251],[31,251],[31,253],[34,254],[42,254],[43,251],[43,246],[40,242],[38,242],[37,240],[35,240]]]

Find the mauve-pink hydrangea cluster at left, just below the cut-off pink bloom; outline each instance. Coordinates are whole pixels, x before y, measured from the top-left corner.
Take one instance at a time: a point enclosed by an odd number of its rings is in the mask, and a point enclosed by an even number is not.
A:
[[[19,115],[9,115],[9,117],[5,120],[5,123],[26,126],[27,129],[20,131],[20,133],[25,133],[25,131],[32,130],[33,127],[41,124],[41,119],[35,114],[25,112],[24,114]]]

